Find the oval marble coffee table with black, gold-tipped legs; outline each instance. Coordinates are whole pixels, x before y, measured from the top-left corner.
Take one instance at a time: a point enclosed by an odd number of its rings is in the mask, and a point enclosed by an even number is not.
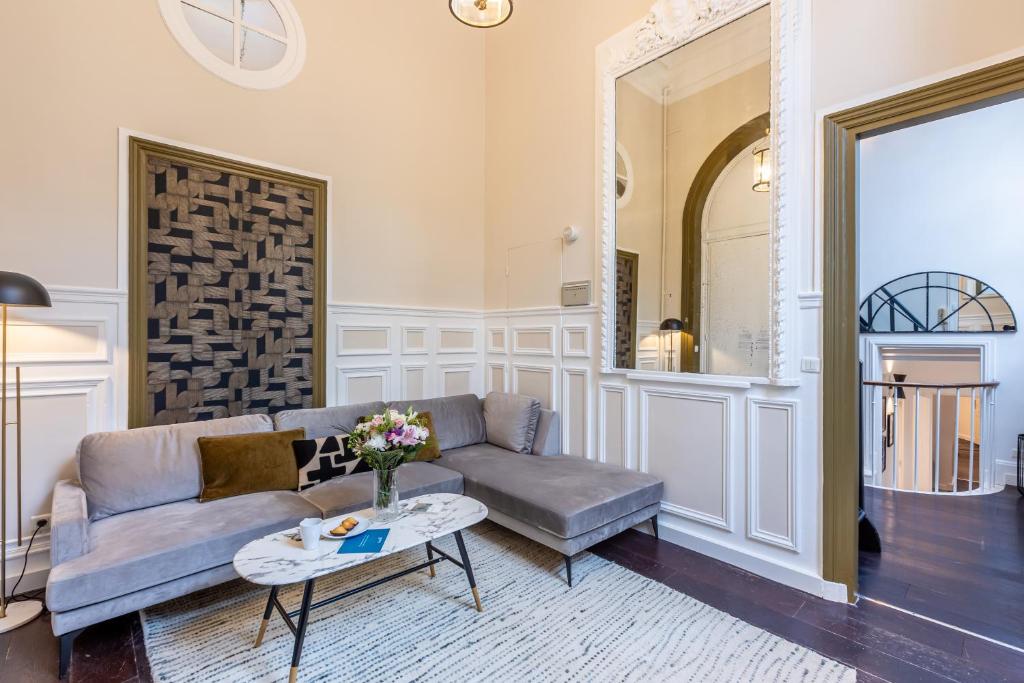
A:
[[[288,679],[291,683],[295,683],[298,679],[299,657],[302,654],[302,640],[305,637],[309,612],[317,607],[335,603],[420,569],[429,568],[430,575],[433,577],[434,565],[447,560],[466,572],[466,579],[469,580],[469,587],[473,593],[473,600],[476,602],[476,609],[477,611],[483,610],[480,605],[480,594],[476,590],[476,580],[473,579],[473,567],[469,563],[466,544],[462,539],[462,529],[472,526],[486,517],[487,508],[479,501],[457,494],[418,496],[408,501],[401,501],[398,507],[399,513],[396,519],[386,524],[375,523],[370,527],[371,529],[390,529],[384,547],[378,553],[339,554],[338,549],[343,542],[325,539],[321,540],[319,548],[316,550],[304,550],[302,542],[297,540],[298,528],[296,527],[253,541],[234,555],[234,570],[240,577],[254,584],[270,587],[270,597],[267,599],[266,609],[263,610],[263,622],[260,624],[254,647],[259,647],[260,643],[263,642],[263,634],[266,633],[266,626],[274,609],[278,610],[282,618],[285,620],[285,624],[295,635],[292,669]],[[373,510],[361,510],[349,514],[373,517]],[[340,522],[349,514],[331,519]],[[431,541],[450,533],[455,536],[462,561],[445,554],[431,544]],[[348,567],[372,562],[421,544],[426,546],[426,562],[315,603],[312,601],[313,584],[316,579]],[[436,557],[434,557],[435,555]],[[302,591],[302,606],[297,610],[288,611],[278,599],[278,592],[282,586],[301,583],[305,584]],[[295,616],[299,617],[298,623],[292,621]]]

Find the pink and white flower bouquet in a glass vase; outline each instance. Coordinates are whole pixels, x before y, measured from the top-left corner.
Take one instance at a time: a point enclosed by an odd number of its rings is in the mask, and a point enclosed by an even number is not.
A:
[[[398,466],[416,457],[430,430],[412,407],[369,416],[348,437],[352,452],[374,471],[374,512],[388,522],[398,515]]]

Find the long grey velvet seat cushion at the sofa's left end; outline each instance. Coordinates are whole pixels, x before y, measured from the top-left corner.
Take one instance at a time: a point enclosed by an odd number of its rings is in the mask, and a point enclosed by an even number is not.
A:
[[[46,604],[66,611],[228,564],[250,541],[318,516],[297,493],[275,490],[100,519],[89,552],[50,570]]]

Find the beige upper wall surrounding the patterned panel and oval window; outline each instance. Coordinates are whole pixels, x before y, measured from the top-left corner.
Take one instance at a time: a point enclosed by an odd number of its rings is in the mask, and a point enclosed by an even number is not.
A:
[[[422,0],[295,5],[305,67],[256,91],[197,65],[157,0],[6,3],[0,268],[117,285],[123,126],[332,176],[332,301],[480,307],[484,32]]]

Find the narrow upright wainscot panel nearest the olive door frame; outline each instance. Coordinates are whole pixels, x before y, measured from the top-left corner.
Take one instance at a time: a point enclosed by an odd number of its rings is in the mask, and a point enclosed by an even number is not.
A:
[[[797,401],[746,399],[746,535],[798,550]]]

